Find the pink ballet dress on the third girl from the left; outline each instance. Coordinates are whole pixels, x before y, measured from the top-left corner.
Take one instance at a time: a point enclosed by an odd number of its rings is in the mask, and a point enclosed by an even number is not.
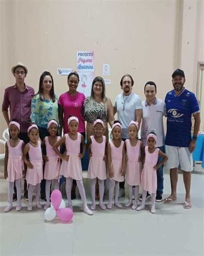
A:
[[[60,137],[57,138],[59,141]],[[61,175],[60,171],[60,158],[53,150],[53,147],[49,144],[48,137],[45,137],[45,145],[46,145],[46,156],[48,157],[48,161],[45,162],[45,171],[44,171],[44,179],[60,179]],[[58,148],[60,149],[60,147]]]

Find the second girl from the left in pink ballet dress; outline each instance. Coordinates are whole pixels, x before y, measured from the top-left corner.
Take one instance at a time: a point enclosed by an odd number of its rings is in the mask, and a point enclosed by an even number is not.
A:
[[[25,178],[28,184],[28,211],[32,211],[34,188],[36,193],[36,206],[37,208],[42,208],[40,204],[40,183],[43,179],[43,157],[37,125],[31,125],[28,128],[28,137],[30,142],[25,145],[23,150],[23,160],[28,166]],[[27,153],[29,155],[29,161],[26,159]]]

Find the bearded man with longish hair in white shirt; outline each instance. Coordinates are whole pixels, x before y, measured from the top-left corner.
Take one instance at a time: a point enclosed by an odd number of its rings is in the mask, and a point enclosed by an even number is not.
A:
[[[123,141],[129,138],[128,126],[130,121],[137,121],[140,125],[142,117],[142,102],[140,97],[132,92],[134,81],[129,74],[121,78],[121,89],[123,93],[118,94],[114,101],[114,115],[117,113],[117,120],[121,122]],[[124,182],[120,182],[119,196],[125,194]]]

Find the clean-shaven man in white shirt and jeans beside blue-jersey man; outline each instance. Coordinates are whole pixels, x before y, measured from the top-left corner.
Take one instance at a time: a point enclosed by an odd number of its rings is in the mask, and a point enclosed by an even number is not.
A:
[[[156,147],[165,153],[163,116],[167,116],[166,104],[163,100],[156,98],[157,86],[154,82],[147,82],[144,89],[146,99],[142,101],[141,140],[143,145],[147,146],[147,135],[151,129],[155,129],[157,134]],[[161,162],[161,160],[162,157],[159,156],[158,162]],[[163,168],[164,165],[157,170],[156,202],[162,202],[164,188]],[[148,197],[150,195],[147,193]],[[142,197],[139,200],[142,200]]]

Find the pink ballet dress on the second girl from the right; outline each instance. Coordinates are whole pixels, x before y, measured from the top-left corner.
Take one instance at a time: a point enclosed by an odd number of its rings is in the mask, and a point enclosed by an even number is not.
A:
[[[138,162],[140,157],[140,141],[137,141],[136,146],[132,147],[130,141],[126,140],[127,148],[127,166],[126,166],[126,182],[130,186],[139,186],[141,182],[142,164]]]

